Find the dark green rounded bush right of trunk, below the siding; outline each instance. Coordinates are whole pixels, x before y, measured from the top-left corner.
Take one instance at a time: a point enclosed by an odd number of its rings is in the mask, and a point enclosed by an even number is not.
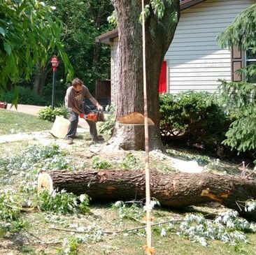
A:
[[[223,108],[206,92],[160,96],[160,130],[166,143],[176,140],[215,150],[230,123]]]

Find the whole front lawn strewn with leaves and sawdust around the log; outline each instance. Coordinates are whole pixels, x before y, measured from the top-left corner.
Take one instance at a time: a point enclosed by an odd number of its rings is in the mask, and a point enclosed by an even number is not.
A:
[[[3,135],[10,133],[10,129],[14,129],[13,126],[17,127],[13,133],[31,132],[50,129],[52,123],[41,121],[36,116],[0,110],[0,125],[0,132]],[[113,203],[103,201],[91,203],[90,212],[85,214],[38,210],[38,170],[93,169],[95,166],[106,165],[106,162],[109,163],[109,168],[113,169],[143,169],[143,152],[90,152],[89,137],[88,133],[79,134],[74,145],[65,145],[62,140],[52,137],[45,138],[45,143],[42,143],[42,140],[26,140],[3,145],[5,149],[0,154],[0,254],[145,254],[145,230],[142,228],[127,231],[145,226],[143,207],[118,208],[114,207]],[[203,162],[204,169],[210,173],[241,173],[235,164],[197,152],[169,150],[169,155],[178,159],[197,159]],[[150,158],[150,166],[164,170],[165,173],[175,171],[167,159],[159,160],[159,157]],[[56,204],[57,210],[63,206],[64,198]],[[20,212],[21,208],[22,212],[17,219],[14,217],[15,214],[10,217],[12,212]],[[180,223],[185,222],[185,215],[192,212],[197,215],[204,214],[204,219],[212,222],[217,214],[225,211],[227,208],[221,205],[198,205],[184,208],[183,211],[156,207],[153,210],[154,224],[174,219],[176,224],[152,227],[152,246],[155,247],[155,254],[256,255],[256,233],[243,233],[247,242],[237,241],[232,244],[232,231],[229,230],[227,237],[230,240],[221,242],[210,238],[206,240],[206,247],[189,235],[178,235],[181,230]],[[206,226],[206,223],[201,226],[203,225]],[[194,223],[190,230],[198,226],[199,223]],[[83,233],[69,230],[79,230]],[[105,231],[111,233],[106,234]]]

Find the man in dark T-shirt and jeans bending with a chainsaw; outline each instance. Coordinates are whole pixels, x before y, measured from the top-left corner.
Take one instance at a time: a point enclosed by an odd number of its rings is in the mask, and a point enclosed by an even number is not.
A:
[[[96,99],[90,94],[89,89],[83,85],[83,81],[75,78],[72,81],[72,86],[66,90],[65,106],[68,108],[70,115],[69,120],[71,122],[68,133],[66,134],[66,143],[71,145],[73,139],[76,136],[76,129],[78,127],[79,117],[85,118],[92,110],[88,105],[83,102],[83,99],[90,99],[90,101],[97,107],[98,110],[103,110],[102,106]],[[96,122],[85,119],[90,126],[90,134],[92,141],[100,142],[104,138],[98,136]]]

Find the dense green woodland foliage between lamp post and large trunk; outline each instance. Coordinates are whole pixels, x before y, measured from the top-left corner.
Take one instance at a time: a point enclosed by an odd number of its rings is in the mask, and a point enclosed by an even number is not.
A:
[[[55,15],[65,24],[62,41],[74,73],[94,92],[97,79],[110,77],[108,45],[95,41],[110,29],[107,17],[113,11],[109,0],[51,0]],[[79,49],[79,50],[78,50]],[[62,66],[60,66],[62,69]]]

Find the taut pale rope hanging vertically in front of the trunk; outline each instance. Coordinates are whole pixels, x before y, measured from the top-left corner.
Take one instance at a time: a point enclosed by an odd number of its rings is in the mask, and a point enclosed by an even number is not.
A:
[[[148,144],[148,99],[147,99],[147,83],[145,70],[145,17],[144,17],[144,1],[142,3],[142,43],[143,43],[143,92],[144,92],[144,126],[145,126],[145,207],[147,222],[147,254],[151,253],[152,234],[151,234],[151,208],[150,208],[150,169],[149,169],[149,144]]]

